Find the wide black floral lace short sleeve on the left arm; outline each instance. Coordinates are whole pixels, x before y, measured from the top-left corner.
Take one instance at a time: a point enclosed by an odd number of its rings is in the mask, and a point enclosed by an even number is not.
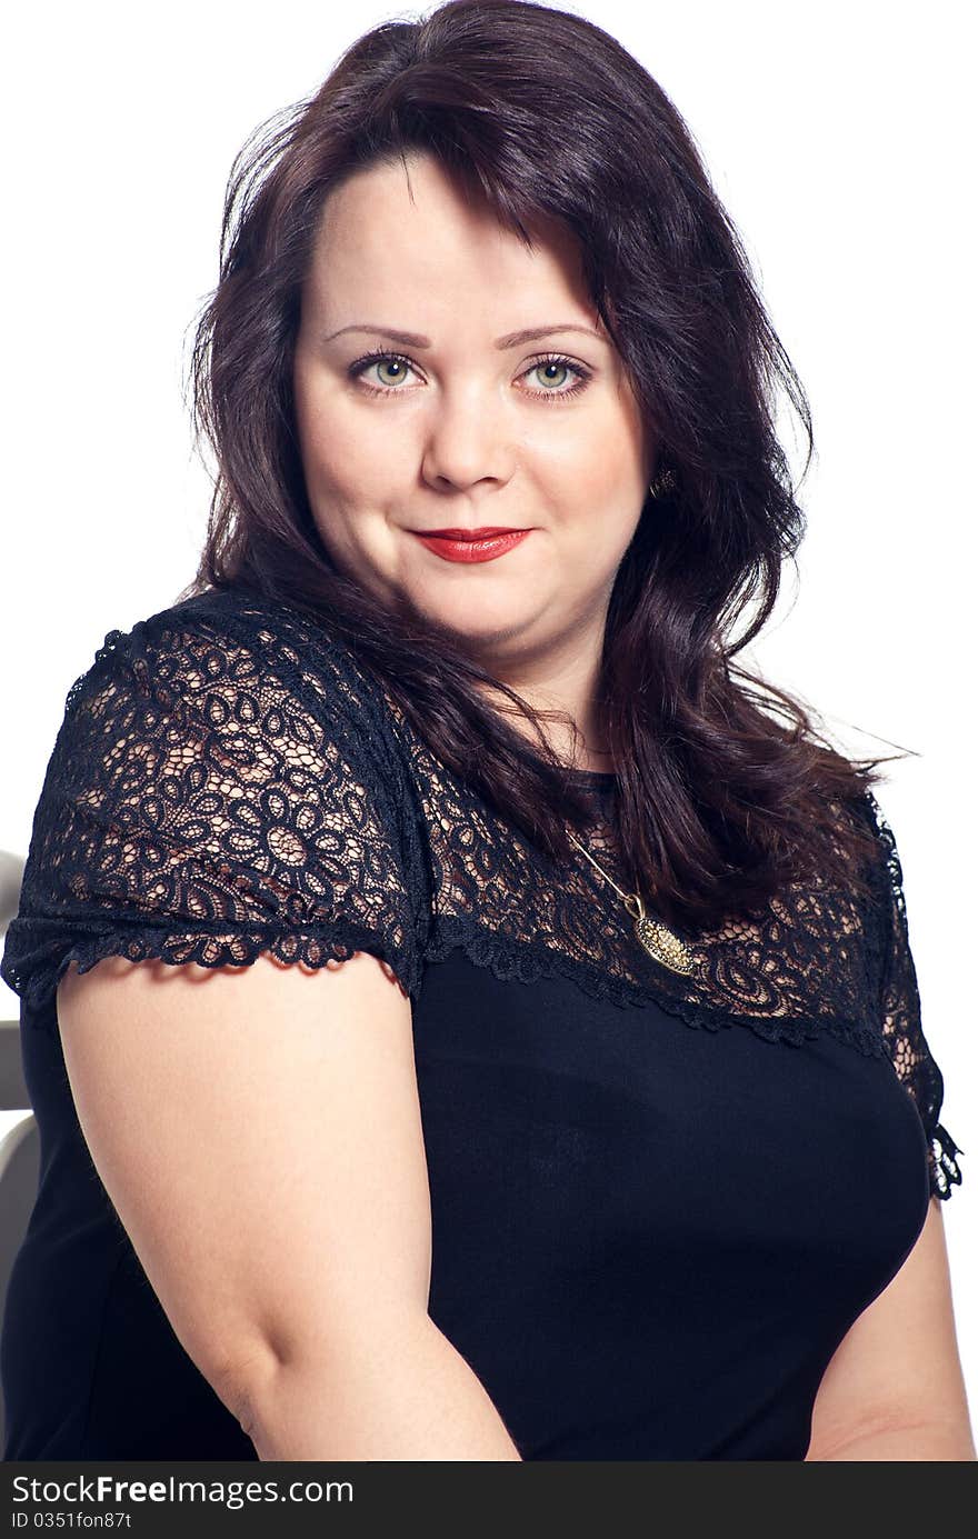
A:
[[[368,951],[414,996],[417,850],[374,696],[325,645],[310,666],[270,629],[163,613],[109,631],[68,694],[0,976],[48,1028],[68,965],[108,956]]]

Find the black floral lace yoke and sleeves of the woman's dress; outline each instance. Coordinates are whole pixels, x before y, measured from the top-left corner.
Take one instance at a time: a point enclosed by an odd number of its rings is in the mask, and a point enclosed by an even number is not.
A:
[[[588,848],[616,880],[607,796]],[[448,774],[351,649],[297,611],[205,594],[109,631],[72,685],[34,816],[0,976],[52,1030],[74,960],[308,968],[370,951],[417,999],[462,946],[499,979],[567,977],[595,999],[801,1047],[887,1056],[919,1111],[930,1185],[960,1183],[921,1030],[903,873],[879,842],[873,902],[793,883],[750,919],[687,936],[692,977],[638,943],[585,856],[565,870]]]

